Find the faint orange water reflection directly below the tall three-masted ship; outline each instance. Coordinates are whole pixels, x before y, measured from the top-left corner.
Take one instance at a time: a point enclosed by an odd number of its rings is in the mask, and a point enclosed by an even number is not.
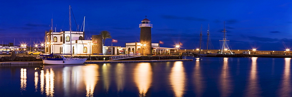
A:
[[[230,96],[232,93],[232,80],[230,78],[229,67],[228,67],[228,58],[223,58],[223,67],[221,69],[220,75],[220,85],[221,85],[221,94],[222,97]]]

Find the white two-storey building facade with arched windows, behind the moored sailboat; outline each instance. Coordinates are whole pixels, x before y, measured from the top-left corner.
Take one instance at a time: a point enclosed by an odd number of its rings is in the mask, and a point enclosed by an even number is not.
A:
[[[46,50],[45,53],[60,53],[73,55],[89,54],[92,52],[91,40],[83,40],[84,32],[70,31],[46,33]],[[70,42],[72,49],[70,49]]]

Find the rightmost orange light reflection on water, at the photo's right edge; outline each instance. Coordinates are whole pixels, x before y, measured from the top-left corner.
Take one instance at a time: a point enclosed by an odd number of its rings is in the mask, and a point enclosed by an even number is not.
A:
[[[282,76],[279,97],[291,96],[290,61],[291,58],[285,58],[285,67]]]

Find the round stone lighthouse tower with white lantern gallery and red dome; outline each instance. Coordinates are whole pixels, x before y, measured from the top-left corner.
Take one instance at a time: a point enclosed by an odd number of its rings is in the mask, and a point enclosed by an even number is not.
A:
[[[143,55],[151,54],[152,47],[151,47],[151,28],[152,24],[150,24],[149,19],[143,19],[141,24],[139,25],[140,30],[140,43],[141,43],[141,50],[140,53]]]

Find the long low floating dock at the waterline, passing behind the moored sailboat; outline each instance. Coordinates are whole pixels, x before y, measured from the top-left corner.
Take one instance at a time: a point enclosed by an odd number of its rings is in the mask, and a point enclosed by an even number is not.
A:
[[[85,61],[84,64],[98,64],[98,63],[138,63],[138,62],[174,62],[174,61],[193,61],[192,59],[179,60],[127,60],[127,61]],[[43,62],[0,62],[4,64],[43,64]]]

